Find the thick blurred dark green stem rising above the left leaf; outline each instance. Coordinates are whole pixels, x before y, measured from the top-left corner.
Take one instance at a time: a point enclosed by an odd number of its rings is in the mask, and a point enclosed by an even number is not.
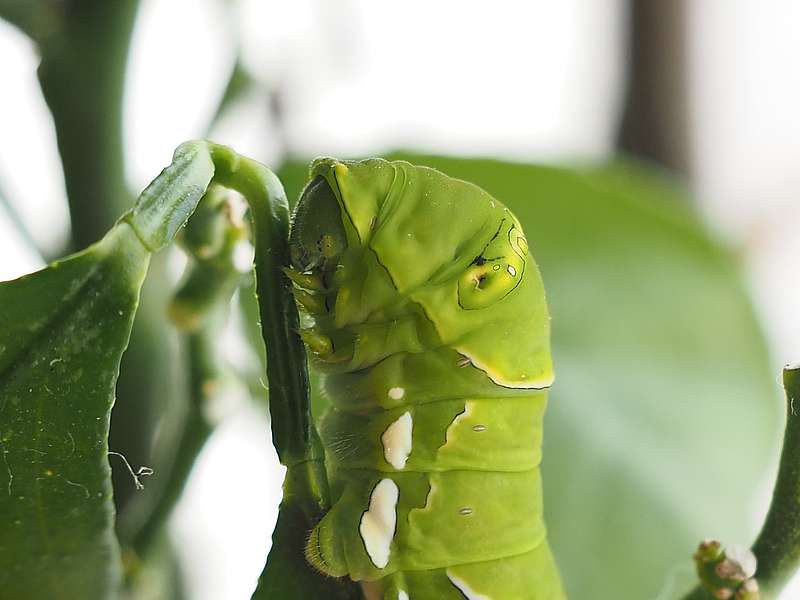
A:
[[[99,239],[131,202],[122,99],[138,0],[40,3],[54,13],[37,39],[39,82],[56,130],[73,242]]]

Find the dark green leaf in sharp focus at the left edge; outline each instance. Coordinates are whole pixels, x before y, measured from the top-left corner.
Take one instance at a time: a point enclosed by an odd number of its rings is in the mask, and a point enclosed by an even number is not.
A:
[[[0,283],[0,590],[108,599],[121,565],[108,428],[150,253],[119,224]]]

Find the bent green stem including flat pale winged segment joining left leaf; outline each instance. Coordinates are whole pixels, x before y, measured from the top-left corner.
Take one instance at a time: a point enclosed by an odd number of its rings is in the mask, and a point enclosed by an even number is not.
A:
[[[290,262],[289,206],[280,181],[263,165],[240,157],[229,148],[187,142],[175,151],[172,164],[142,192],[122,221],[130,224],[148,249],[156,251],[172,241],[214,185],[239,192],[250,206],[273,443],[287,468],[273,536],[277,540],[273,550],[277,552],[270,552],[256,596],[274,597],[276,585],[290,583],[288,569],[295,578],[313,580],[323,594],[313,597],[358,597],[351,593],[352,583],[331,582],[303,559],[306,535],[329,509],[330,495],[322,444],[311,417],[299,316],[292,284],[284,272]],[[277,558],[273,559],[273,554]],[[265,591],[266,586],[269,591]]]

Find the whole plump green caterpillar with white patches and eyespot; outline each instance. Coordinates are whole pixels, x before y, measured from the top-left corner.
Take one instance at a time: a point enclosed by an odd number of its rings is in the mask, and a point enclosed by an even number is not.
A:
[[[564,598],[539,471],[550,323],[514,215],[433,169],[320,159],[290,248],[332,403],[308,560],[370,599]]]

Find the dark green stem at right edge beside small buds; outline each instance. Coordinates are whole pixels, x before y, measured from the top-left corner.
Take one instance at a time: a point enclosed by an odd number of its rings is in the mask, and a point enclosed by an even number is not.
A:
[[[777,598],[800,567],[800,366],[783,370],[783,386],[786,430],[778,478],[761,533],[752,546],[763,600]],[[683,600],[709,598],[705,590],[696,587]]]

